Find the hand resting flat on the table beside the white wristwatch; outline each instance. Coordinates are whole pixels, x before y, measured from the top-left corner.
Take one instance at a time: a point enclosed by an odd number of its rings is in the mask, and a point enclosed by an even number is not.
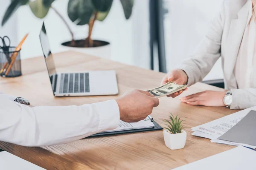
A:
[[[192,94],[186,97],[180,98],[181,102],[189,105],[202,105],[211,107],[226,106],[223,102],[223,98],[226,91],[203,91],[200,93]]]

